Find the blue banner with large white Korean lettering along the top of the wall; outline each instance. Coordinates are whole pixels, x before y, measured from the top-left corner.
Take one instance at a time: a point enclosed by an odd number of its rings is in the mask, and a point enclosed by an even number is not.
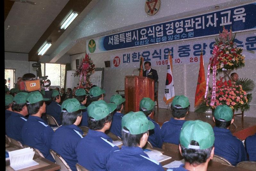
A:
[[[152,26],[142,27],[98,39],[98,52],[132,48],[156,43],[200,38],[232,31],[256,29],[256,3],[237,6]],[[93,52],[92,52],[93,53]],[[96,50],[97,53],[97,50]]]

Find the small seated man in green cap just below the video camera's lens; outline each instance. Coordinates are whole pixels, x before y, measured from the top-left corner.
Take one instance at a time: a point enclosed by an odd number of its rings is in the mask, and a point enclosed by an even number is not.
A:
[[[52,102],[46,107],[46,114],[54,117],[58,125],[61,123],[61,105],[60,103],[60,93],[57,90],[52,90]],[[57,125],[50,125],[57,126]]]

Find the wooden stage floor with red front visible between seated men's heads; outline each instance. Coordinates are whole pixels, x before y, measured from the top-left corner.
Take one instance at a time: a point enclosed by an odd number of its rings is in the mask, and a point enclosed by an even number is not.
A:
[[[166,121],[169,121],[172,117],[171,110],[159,108],[157,110],[155,108],[154,120],[162,126],[162,124]],[[202,120],[204,122],[209,123],[212,127],[215,126],[215,123],[212,120],[211,113],[195,113],[189,112],[186,116],[185,120]],[[230,131],[234,136],[239,138],[240,140],[244,140],[249,135],[253,135],[256,133],[256,118],[253,117],[243,117],[243,121],[241,119],[241,115],[235,116],[235,128],[234,125],[230,126]]]

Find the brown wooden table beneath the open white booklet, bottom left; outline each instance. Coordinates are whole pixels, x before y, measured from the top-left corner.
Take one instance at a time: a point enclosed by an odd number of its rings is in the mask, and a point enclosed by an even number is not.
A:
[[[5,149],[8,151],[18,150],[21,149],[20,147],[14,145],[14,144],[5,144]],[[33,160],[39,163],[39,165],[27,167],[24,169],[21,169],[19,171],[55,171],[61,169],[59,165],[56,163],[53,163],[37,154],[34,155]],[[7,171],[13,171],[14,169],[10,167],[10,160],[5,161],[5,170]]]

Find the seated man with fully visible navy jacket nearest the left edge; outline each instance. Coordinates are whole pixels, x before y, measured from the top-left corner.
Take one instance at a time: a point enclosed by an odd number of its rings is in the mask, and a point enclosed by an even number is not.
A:
[[[20,141],[23,144],[21,138],[21,129],[26,123],[27,119],[25,116],[28,115],[26,96],[28,93],[17,93],[13,99],[12,109],[13,112],[11,116],[7,119],[5,125],[6,135],[10,138],[13,138],[17,141]]]

